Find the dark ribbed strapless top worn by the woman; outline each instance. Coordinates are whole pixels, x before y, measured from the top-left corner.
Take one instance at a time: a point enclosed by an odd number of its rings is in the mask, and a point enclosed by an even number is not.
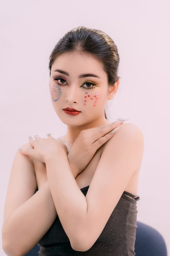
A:
[[[81,188],[85,196],[88,188],[89,186]],[[72,249],[57,215],[52,226],[38,242],[39,256],[134,256],[138,212],[136,204],[139,199],[139,196],[124,191],[99,238],[85,252]]]

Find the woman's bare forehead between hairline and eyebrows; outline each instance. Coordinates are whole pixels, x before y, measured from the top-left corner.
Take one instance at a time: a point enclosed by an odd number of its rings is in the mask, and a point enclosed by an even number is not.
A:
[[[70,75],[81,73],[95,73],[99,77],[105,77],[107,74],[103,69],[103,63],[94,56],[87,53],[66,52],[58,56],[52,66],[51,72],[55,69],[67,71]]]

